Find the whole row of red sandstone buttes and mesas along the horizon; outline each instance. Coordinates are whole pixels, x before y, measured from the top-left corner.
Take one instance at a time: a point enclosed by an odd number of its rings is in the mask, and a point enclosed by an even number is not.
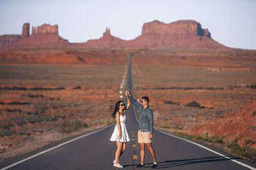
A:
[[[58,26],[43,24],[32,27],[25,23],[22,35],[0,36],[0,49],[30,47],[83,47],[83,48],[211,48],[226,49],[212,39],[207,29],[194,20],[179,20],[164,24],[157,20],[143,24],[141,36],[133,40],[122,40],[110,34],[106,28],[103,36],[84,43],[69,43],[59,36]]]

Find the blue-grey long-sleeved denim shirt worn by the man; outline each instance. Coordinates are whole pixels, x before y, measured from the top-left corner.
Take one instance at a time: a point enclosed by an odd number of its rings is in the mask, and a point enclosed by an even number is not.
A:
[[[153,134],[154,132],[154,121],[153,121],[153,112],[148,107],[143,109],[143,106],[139,104],[135,99],[133,99],[132,96],[129,96],[129,100],[133,105],[135,105],[140,112],[140,118],[139,118],[139,129],[141,132],[150,132],[150,134]]]

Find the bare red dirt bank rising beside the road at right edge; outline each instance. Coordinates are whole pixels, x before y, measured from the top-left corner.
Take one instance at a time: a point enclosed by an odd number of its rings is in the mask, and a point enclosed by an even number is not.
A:
[[[256,148],[256,101],[251,101],[241,110],[225,114],[223,118],[208,120],[191,130],[191,134],[217,136],[226,140],[236,139],[241,146]],[[247,144],[246,144],[247,140]]]

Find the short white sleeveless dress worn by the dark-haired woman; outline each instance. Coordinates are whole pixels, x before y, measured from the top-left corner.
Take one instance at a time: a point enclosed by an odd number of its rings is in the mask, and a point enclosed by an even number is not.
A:
[[[119,138],[118,138],[119,132],[118,132],[117,124],[116,124],[115,130],[110,138],[110,141],[117,141],[117,142],[129,142],[130,141],[127,130],[126,130],[126,126],[125,126],[125,119],[126,119],[126,117],[122,116],[120,114],[121,139],[119,140]]]

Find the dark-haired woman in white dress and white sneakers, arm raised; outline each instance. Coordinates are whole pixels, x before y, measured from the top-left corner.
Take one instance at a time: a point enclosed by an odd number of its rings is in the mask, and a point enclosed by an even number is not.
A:
[[[130,101],[127,92],[125,92],[125,95],[127,98],[127,107],[125,108],[125,103],[123,101],[117,101],[115,110],[112,114],[112,117],[117,120],[117,125],[115,126],[115,130],[110,138],[110,141],[117,142],[117,151],[115,154],[115,160],[113,161],[114,167],[123,167],[119,164],[119,158],[125,152],[126,142],[130,141],[125,127],[125,111],[129,108]]]

